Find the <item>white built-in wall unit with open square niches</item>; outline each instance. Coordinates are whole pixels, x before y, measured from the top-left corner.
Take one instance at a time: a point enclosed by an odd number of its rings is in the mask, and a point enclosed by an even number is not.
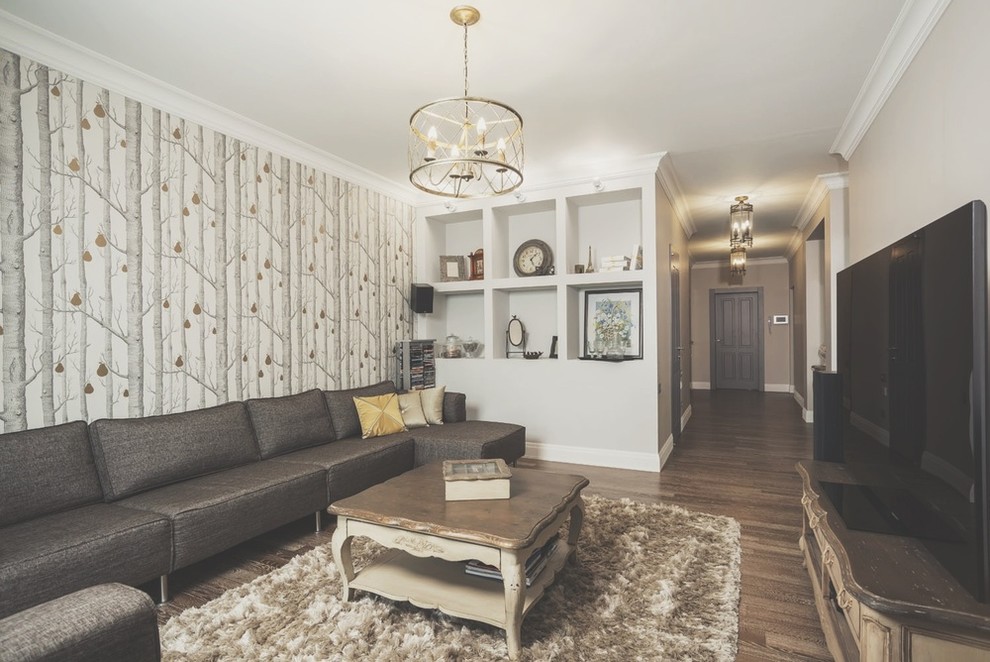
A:
[[[594,176],[604,190],[592,187]],[[485,345],[480,360],[438,358],[438,383],[469,394],[472,418],[525,425],[534,448],[557,446],[573,457],[614,452],[639,458],[644,468],[659,466],[653,464],[661,418],[657,388],[667,376],[659,361],[664,322],[658,290],[667,247],[658,244],[655,168],[595,173],[523,193],[524,202],[513,196],[458,200],[453,214],[442,203],[417,210],[416,277],[432,282],[437,293],[433,314],[415,318],[417,337],[456,334]],[[515,274],[512,257],[529,239],[550,245],[554,274]],[[589,245],[596,268],[602,256],[633,257],[633,247],[641,245],[643,268],[574,273],[575,265],[587,264]],[[436,282],[437,256],[454,246],[464,255],[484,249],[484,280]],[[643,360],[580,360],[585,293],[628,288],[643,291]],[[513,315],[526,328],[526,350],[543,352],[540,359],[506,357],[505,330]],[[550,359],[554,336],[558,358]]]

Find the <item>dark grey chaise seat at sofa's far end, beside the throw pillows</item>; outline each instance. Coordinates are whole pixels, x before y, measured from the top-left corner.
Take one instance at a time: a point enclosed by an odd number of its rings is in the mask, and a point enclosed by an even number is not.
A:
[[[508,463],[526,454],[526,428],[514,423],[463,421],[414,431],[416,466],[441,460],[500,457]]]

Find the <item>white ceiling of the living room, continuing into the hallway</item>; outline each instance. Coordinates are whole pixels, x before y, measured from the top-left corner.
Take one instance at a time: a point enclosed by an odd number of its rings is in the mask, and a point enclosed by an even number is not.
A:
[[[666,151],[697,232],[727,255],[747,194],[750,256],[784,255],[906,0],[475,0],[471,93],[525,121],[526,182]],[[456,0],[0,0],[69,41],[418,192],[412,111],[462,88]],[[71,72],[70,72],[71,73]]]

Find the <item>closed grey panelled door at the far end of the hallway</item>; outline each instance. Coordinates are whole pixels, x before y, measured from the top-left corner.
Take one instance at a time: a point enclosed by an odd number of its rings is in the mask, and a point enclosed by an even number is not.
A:
[[[716,292],[714,388],[762,389],[763,352],[759,292]]]

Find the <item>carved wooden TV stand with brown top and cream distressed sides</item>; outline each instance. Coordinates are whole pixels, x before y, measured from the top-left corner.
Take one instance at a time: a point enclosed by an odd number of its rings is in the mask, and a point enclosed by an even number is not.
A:
[[[804,461],[800,547],[838,662],[990,662],[990,605],[919,541],[847,529],[820,482],[861,483],[845,465]]]

